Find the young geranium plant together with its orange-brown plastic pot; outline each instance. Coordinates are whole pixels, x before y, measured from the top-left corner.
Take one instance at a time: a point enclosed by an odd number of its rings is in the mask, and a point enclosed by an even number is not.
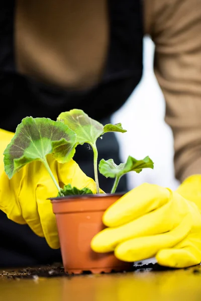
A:
[[[79,109],[62,112],[56,121],[26,117],[17,126],[4,152],[5,172],[10,179],[26,164],[39,160],[56,185],[58,195],[50,200],[56,215],[63,265],[68,273],[127,271],[132,268],[131,263],[118,260],[113,253],[93,252],[90,242],[105,228],[102,222],[105,210],[125,193],[116,193],[121,177],[131,171],[140,173],[144,168],[153,169],[153,162],[149,157],[136,160],[129,156],[126,163],[119,166],[113,159],[102,159],[98,164],[96,140],[107,132],[126,130],[121,123],[103,125]],[[96,194],[87,187],[79,190],[68,183],[59,187],[47,162],[49,155],[59,163],[68,162],[73,158],[76,146],[83,143],[88,143],[93,150]],[[110,194],[104,193],[104,187],[99,188],[98,170],[105,177],[114,178]]]

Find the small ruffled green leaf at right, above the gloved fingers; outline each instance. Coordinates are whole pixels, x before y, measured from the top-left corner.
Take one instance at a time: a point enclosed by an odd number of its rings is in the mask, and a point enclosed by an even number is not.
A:
[[[122,177],[128,172],[140,173],[144,168],[154,168],[153,161],[146,157],[143,160],[136,160],[135,158],[129,156],[126,163],[121,163],[116,165],[113,159],[100,160],[98,169],[100,174],[104,175],[106,178],[116,178]]]

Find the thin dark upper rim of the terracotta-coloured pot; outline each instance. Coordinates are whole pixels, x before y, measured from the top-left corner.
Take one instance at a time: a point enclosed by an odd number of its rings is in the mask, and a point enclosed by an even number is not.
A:
[[[100,193],[100,194],[84,194],[84,195],[70,195],[70,196],[64,196],[64,197],[55,197],[55,198],[48,198],[48,200],[51,201],[66,201],[67,200],[74,200],[74,199],[93,199],[93,198],[105,198],[105,197],[115,197],[115,196],[123,196],[128,191],[124,192],[117,192],[117,193]]]

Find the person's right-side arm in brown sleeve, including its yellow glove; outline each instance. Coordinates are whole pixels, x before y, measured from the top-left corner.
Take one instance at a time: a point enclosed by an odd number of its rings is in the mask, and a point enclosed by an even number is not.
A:
[[[155,257],[159,265],[183,268],[201,262],[201,0],[144,4],[174,134],[176,177],[186,180],[177,192],[144,183],[126,193],[104,213],[108,228],[93,237],[91,248],[114,251],[123,261]]]

